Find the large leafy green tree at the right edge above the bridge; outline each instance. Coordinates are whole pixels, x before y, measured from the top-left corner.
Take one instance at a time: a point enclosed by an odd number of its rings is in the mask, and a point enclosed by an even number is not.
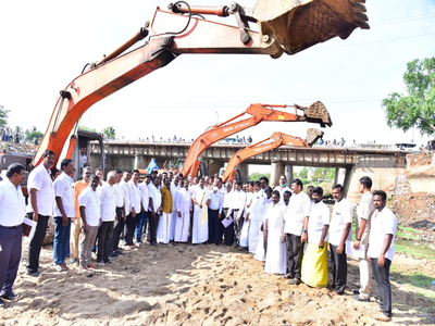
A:
[[[422,135],[435,134],[435,58],[408,62],[403,74],[407,95],[393,92],[382,101],[387,124],[407,131],[415,126]]]

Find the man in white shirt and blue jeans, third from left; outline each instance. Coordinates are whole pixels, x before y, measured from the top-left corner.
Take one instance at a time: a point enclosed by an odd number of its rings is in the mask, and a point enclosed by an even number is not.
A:
[[[75,217],[73,179],[70,177],[70,174],[74,173],[73,160],[63,159],[61,170],[61,175],[53,183],[55,200],[53,259],[58,272],[69,269],[65,258],[70,251],[71,218]]]

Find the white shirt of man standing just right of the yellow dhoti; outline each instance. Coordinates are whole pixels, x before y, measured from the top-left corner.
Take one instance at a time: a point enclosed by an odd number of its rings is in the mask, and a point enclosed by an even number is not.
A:
[[[330,224],[330,243],[338,246],[347,223],[352,223],[353,210],[346,198],[335,202]],[[351,229],[346,240],[351,240]]]

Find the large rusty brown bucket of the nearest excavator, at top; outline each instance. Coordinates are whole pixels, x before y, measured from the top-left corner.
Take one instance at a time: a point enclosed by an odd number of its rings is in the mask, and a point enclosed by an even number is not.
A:
[[[287,54],[360,27],[369,29],[365,0],[258,0],[252,15],[261,34],[276,40]]]

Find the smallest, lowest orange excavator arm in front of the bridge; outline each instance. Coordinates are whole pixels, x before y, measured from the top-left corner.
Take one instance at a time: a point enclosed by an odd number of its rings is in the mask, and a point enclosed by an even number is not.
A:
[[[318,139],[322,136],[323,131],[314,128],[309,128],[307,130],[307,138],[304,140],[299,137],[286,135],[283,133],[274,133],[270,138],[263,139],[236,152],[229,159],[228,164],[226,165],[225,172],[222,176],[222,181],[228,181],[233,184],[237,173],[237,166],[249,158],[274,150],[285,145],[294,147],[312,147],[315,141],[318,141]]]

